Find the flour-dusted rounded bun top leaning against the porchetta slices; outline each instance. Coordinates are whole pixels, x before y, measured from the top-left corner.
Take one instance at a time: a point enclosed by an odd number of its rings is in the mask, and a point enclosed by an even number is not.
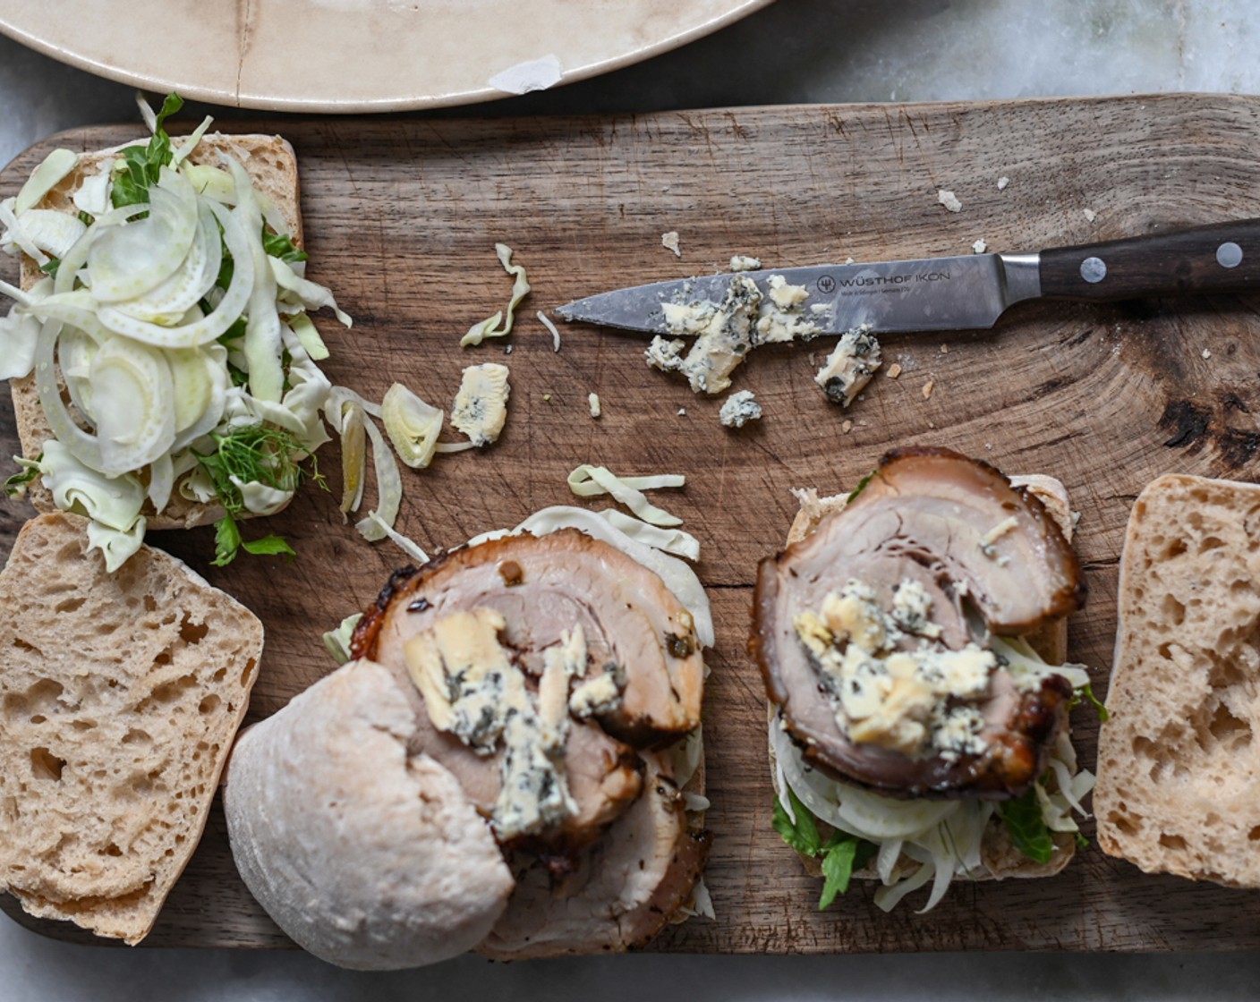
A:
[[[393,676],[350,662],[242,735],[223,803],[241,876],[300,947],[340,967],[445,960],[480,943],[513,878],[459,781],[410,754]]]

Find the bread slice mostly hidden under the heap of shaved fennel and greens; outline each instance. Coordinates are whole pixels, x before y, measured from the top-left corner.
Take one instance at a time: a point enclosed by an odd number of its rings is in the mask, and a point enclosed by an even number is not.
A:
[[[54,209],[73,216],[78,212],[73,202],[74,192],[83,181],[102,171],[108,171],[110,166],[118,159],[120,151],[127,145],[144,145],[147,141],[149,137],[145,136],[136,140],[136,144],[123,144],[123,146],[110,150],[81,154],[74,170],[63,178],[35,208]],[[181,141],[184,140],[176,137],[173,144],[178,149]],[[210,132],[202,137],[188,161],[222,166],[224,155],[234,158],[249,173],[257,192],[275,205],[289,227],[294,243],[301,247],[302,221],[299,203],[297,158],[287,140],[280,136],[231,136]],[[21,287],[29,290],[43,277],[39,266],[23,255]],[[11,379],[10,389],[18,420],[18,437],[21,440],[21,454],[26,459],[38,459],[44,451],[44,442],[53,437],[53,432],[44,417],[43,407],[39,406],[34,374]],[[68,398],[67,403],[69,403]],[[26,497],[30,498],[37,512],[58,510],[53,503],[52,493],[39,478],[28,485]],[[223,508],[217,504],[188,500],[176,490],[161,512],[154,512],[152,505],[145,502],[144,514],[150,529],[178,529],[215,522],[223,517]]]

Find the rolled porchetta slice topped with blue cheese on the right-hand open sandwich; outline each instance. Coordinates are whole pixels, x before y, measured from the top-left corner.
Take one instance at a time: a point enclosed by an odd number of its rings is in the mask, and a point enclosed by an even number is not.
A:
[[[750,642],[769,698],[810,765],[895,797],[1026,790],[1066,726],[1072,691],[1061,676],[1021,689],[999,663],[975,700],[988,741],[980,754],[912,755],[844,732],[794,624],[850,580],[869,586],[883,609],[903,582],[921,586],[950,650],[984,647],[990,634],[1022,636],[1084,600],[1076,556],[1042,504],[950,450],[891,452],[848,505],[761,562]]]

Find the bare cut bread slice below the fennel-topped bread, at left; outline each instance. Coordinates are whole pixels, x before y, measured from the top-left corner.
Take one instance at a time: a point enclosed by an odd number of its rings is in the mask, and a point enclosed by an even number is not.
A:
[[[0,572],[0,891],[137,943],[205,827],[262,624],[146,546],[107,573],[87,524],[28,522]]]

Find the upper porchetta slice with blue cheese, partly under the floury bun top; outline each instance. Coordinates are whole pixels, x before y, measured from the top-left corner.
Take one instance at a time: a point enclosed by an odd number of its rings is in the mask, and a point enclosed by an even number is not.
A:
[[[607,543],[561,529],[462,547],[396,573],[355,630],[352,652],[406,679],[407,642],[444,616],[476,609],[503,616],[499,639],[533,687],[544,652],[575,626],[585,635],[586,678],[616,676],[617,705],[568,727],[563,763],[578,810],[542,839],[581,846],[639,798],[636,749],[669,744],[699,723],[704,667],[692,616],[651,571]],[[415,751],[447,768],[489,815],[504,749],[475,754],[437,730],[418,689],[410,681],[406,688],[421,721]]]

